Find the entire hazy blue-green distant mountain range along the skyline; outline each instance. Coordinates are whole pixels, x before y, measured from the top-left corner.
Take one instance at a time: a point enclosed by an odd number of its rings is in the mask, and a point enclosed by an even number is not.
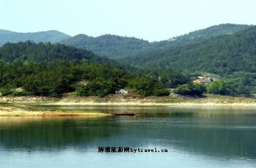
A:
[[[36,33],[16,33],[13,31],[0,30],[0,46],[4,43],[26,42],[31,40],[35,43],[51,42],[63,43],[80,49],[92,50],[99,56],[120,59],[122,57],[133,57],[141,54],[159,52],[164,49],[180,47],[191,43],[198,43],[213,36],[223,34],[232,34],[241,31],[250,26],[238,24],[220,24],[218,26],[208,27],[198,31],[193,31],[182,36],[177,36],[161,42],[148,42],[138,38],[125,36],[116,36],[106,34],[96,38],[84,34],[78,34],[74,37],[59,31],[42,31]]]

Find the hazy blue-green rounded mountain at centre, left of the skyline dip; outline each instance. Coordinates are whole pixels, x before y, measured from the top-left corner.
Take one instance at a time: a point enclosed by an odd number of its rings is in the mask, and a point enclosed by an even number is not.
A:
[[[59,43],[92,50],[99,56],[106,56],[109,58],[131,56],[138,50],[150,47],[148,41],[111,34],[98,36],[96,38],[85,34],[78,34],[77,36],[67,38]]]

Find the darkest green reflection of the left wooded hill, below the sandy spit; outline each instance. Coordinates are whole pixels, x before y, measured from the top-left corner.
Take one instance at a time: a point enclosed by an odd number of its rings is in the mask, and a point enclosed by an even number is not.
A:
[[[61,149],[79,148],[97,139],[118,134],[119,124],[108,118],[17,118],[0,121],[0,144],[4,148]],[[12,123],[13,122],[13,123]],[[114,131],[115,130],[115,131]]]

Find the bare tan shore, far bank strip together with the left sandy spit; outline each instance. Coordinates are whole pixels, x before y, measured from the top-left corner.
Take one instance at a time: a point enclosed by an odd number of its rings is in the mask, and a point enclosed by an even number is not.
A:
[[[56,118],[56,117],[106,117],[112,116],[111,114],[102,113],[98,111],[62,111],[60,109],[53,110],[47,108],[47,105],[51,106],[141,106],[141,107],[154,107],[154,106],[169,106],[170,108],[218,108],[218,107],[234,107],[234,108],[250,108],[256,107],[256,100],[252,98],[231,98],[230,97],[218,98],[197,98],[197,99],[179,99],[172,102],[156,102],[152,100],[141,101],[68,101],[62,99],[58,101],[17,101],[17,102],[0,102],[0,117],[40,117],[40,118]],[[234,101],[236,99],[236,101]],[[24,98],[26,100],[26,98]],[[153,99],[154,100],[154,99]],[[218,100],[218,101],[216,101]],[[245,101],[246,100],[246,101]],[[250,100],[250,101],[249,101]],[[33,107],[33,105],[42,105],[42,107]]]

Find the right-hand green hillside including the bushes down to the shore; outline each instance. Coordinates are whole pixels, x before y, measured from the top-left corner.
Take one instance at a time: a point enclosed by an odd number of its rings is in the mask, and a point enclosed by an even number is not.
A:
[[[144,68],[164,68],[186,74],[210,72],[225,79],[221,95],[252,95],[256,91],[256,27],[233,34],[216,36],[204,42],[175,49],[159,50],[122,59],[124,63]]]

